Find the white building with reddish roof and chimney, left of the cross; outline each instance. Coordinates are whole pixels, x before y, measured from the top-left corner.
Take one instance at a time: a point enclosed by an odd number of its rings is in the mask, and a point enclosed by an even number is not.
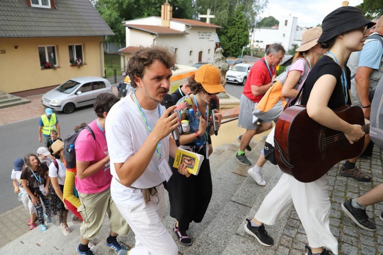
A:
[[[165,15],[168,14],[168,15]],[[172,18],[172,7],[162,5],[161,17],[146,17],[123,22],[126,47],[119,50],[121,66],[139,46],[163,45],[177,56],[177,63],[193,65],[213,62],[218,25],[192,19]]]

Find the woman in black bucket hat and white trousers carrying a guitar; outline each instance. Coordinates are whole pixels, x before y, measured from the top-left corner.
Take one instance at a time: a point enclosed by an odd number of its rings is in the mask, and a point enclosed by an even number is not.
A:
[[[329,129],[343,132],[351,144],[365,135],[362,126],[347,123],[332,109],[351,104],[348,93],[350,71],[344,64],[351,52],[362,49],[369,35],[367,29],[372,25],[374,23],[355,7],[341,7],[328,14],[323,19],[323,32],[318,39],[321,47],[328,49],[328,52],[308,74],[302,92],[301,104],[306,105],[308,116]],[[293,203],[310,246],[307,246],[306,254],[328,254],[323,247],[338,254],[338,242],[329,227],[331,204],[326,175],[314,182],[302,183],[283,173],[255,217],[247,219],[245,231],[262,245],[270,246],[272,238],[263,223],[274,224]]]

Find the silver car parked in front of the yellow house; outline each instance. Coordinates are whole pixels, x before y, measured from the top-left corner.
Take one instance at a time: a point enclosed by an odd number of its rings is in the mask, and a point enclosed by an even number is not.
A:
[[[93,105],[96,97],[105,92],[113,93],[108,80],[91,76],[77,77],[43,94],[41,103],[55,111],[73,113],[78,107]]]

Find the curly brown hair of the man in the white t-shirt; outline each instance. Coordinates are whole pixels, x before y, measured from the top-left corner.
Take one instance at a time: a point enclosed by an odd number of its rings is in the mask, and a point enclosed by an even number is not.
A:
[[[169,52],[169,49],[163,46],[142,47],[129,58],[127,72],[130,78],[130,85],[133,88],[137,87],[134,81],[135,77],[142,78],[145,67],[149,67],[153,64],[154,60],[158,60],[166,66],[171,68],[176,64],[176,58],[174,54]]]

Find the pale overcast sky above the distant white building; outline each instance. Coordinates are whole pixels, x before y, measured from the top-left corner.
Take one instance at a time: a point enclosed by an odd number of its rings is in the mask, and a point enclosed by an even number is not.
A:
[[[356,6],[363,0],[348,0],[349,6]],[[282,16],[294,16],[298,18],[300,27],[315,27],[321,24],[323,18],[342,6],[342,0],[269,0],[264,13],[260,16],[273,16],[279,21]]]

